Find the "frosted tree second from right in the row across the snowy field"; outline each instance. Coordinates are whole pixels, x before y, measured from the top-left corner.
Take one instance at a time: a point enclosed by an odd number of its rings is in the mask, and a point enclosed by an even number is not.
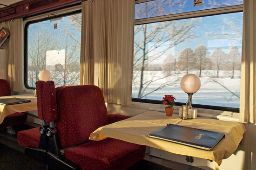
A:
[[[217,47],[212,55],[211,55],[211,60],[213,62],[213,69],[214,71],[216,70],[217,72],[217,78],[219,78],[219,71],[222,69],[222,65],[226,60],[226,54],[225,52],[221,49],[221,47]],[[215,77],[215,74],[214,74]]]

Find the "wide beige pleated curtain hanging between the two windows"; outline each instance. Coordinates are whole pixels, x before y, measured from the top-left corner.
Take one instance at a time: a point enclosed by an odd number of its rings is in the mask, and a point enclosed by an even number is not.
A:
[[[105,101],[131,102],[134,0],[82,2],[81,84],[94,84]]]

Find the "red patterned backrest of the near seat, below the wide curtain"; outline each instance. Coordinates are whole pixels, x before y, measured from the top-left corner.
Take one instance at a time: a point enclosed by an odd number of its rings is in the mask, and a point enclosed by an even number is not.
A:
[[[58,129],[61,148],[88,141],[98,127],[108,124],[108,113],[101,89],[97,86],[56,88]]]

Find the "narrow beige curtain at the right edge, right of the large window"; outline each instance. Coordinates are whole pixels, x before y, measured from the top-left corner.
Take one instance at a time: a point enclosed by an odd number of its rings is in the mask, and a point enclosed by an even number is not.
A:
[[[240,118],[256,123],[256,1],[244,0]]]

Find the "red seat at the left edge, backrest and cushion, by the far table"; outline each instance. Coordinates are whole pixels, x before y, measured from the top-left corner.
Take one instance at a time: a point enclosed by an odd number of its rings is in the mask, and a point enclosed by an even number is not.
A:
[[[4,79],[0,79],[0,96],[7,96],[11,94],[11,88],[9,82]],[[25,113],[13,113],[5,117],[3,122],[0,124],[0,128],[6,126],[15,126],[25,124],[27,122],[27,114]]]

